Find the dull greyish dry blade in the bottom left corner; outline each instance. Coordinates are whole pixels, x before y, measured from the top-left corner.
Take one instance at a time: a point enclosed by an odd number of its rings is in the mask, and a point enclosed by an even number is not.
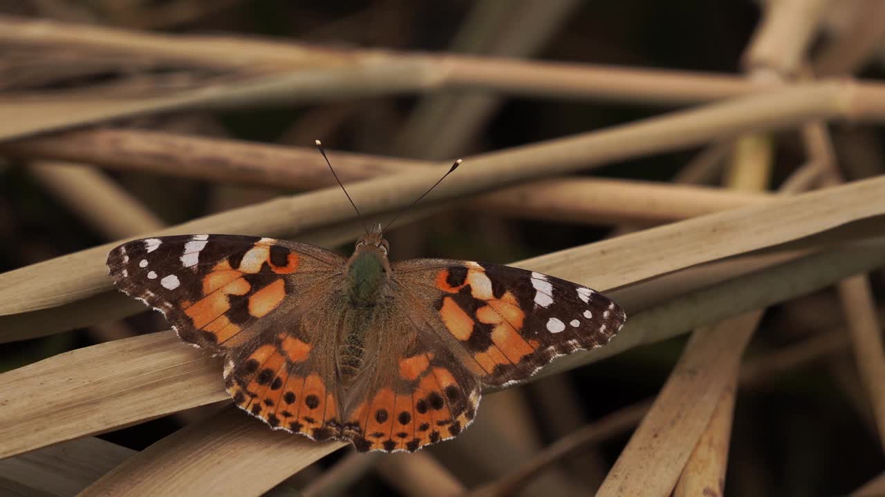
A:
[[[87,437],[0,461],[0,494],[69,497],[135,451]]]

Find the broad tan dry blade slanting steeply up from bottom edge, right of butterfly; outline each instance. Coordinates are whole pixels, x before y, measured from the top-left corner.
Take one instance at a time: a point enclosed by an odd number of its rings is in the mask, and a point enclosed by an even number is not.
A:
[[[720,396],[740,365],[740,355],[762,316],[751,311],[692,335],[598,495],[666,495],[673,491]],[[746,333],[746,330],[750,333]],[[640,450],[636,450],[641,447]],[[656,454],[652,462],[647,452]]]

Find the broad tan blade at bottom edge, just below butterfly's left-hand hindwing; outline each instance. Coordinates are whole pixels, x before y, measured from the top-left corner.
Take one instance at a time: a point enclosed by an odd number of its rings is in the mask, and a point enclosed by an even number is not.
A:
[[[260,495],[344,446],[244,423],[242,412],[231,406],[129,458],[81,496]]]

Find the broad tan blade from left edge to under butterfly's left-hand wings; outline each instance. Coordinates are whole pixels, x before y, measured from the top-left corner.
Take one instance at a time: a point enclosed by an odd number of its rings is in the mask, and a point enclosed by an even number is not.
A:
[[[81,348],[5,372],[0,458],[227,400],[220,368],[218,360],[181,347],[169,332]]]

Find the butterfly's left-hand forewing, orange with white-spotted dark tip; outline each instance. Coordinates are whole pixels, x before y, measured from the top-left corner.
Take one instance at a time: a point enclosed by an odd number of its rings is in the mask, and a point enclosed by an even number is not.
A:
[[[129,241],[107,265],[117,287],[162,312],[181,340],[219,354],[272,326],[343,261],[301,243],[192,234]]]

